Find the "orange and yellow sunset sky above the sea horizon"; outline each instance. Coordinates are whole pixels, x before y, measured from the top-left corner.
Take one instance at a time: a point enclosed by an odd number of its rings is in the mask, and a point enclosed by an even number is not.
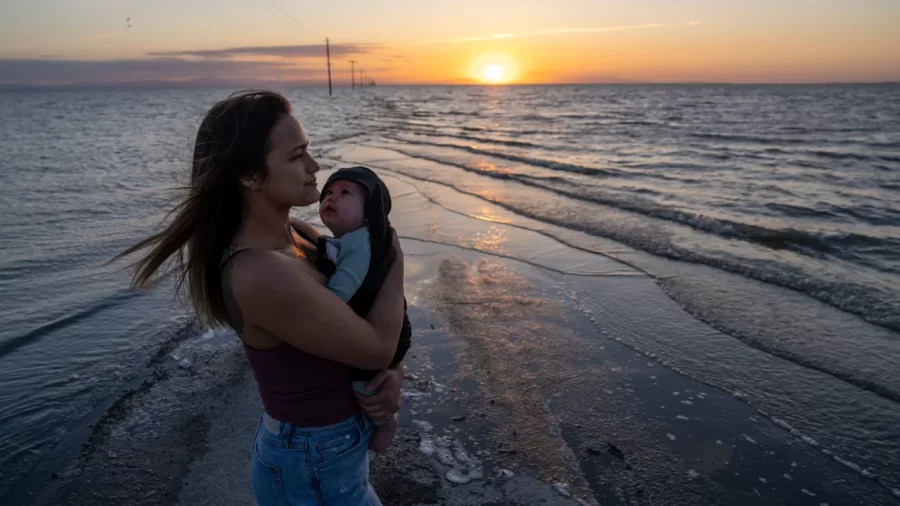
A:
[[[898,0],[0,0],[0,84],[321,83],[325,37],[339,84],[900,81]]]

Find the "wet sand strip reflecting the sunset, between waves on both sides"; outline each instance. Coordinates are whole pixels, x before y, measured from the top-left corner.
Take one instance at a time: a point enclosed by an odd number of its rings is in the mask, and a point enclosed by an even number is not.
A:
[[[385,504],[896,502],[739,392],[626,346],[626,333],[698,346],[729,339],[656,280],[538,232],[448,212],[387,179],[415,334],[396,446],[372,462]],[[117,402],[72,465],[19,497],[252,504],[261,406],[234,336],[208,342],[202,361],[161,368]]]

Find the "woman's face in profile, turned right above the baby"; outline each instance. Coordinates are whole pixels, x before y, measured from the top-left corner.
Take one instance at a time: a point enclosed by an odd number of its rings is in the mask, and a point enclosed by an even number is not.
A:
[[[309,139],[300,123],[290,114],[281,115],[269,133],[267,175],[259,187],[276,206],[302,207],[319,201],[319,164],[308,148]]]

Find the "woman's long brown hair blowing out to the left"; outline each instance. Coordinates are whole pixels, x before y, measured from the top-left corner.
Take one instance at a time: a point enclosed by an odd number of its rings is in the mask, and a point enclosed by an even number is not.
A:
[[[201,320],[230,323],[222,294],[221,262],[243,215],[241,179],[265,178],[269,133],[291,106],[281,94],[251,90],[218,102],[204,116],[194,143],[191,183],[169,224],[116,259],[147,249],[131,267],[131,286],[148,287],[174,256],[177,289]]]

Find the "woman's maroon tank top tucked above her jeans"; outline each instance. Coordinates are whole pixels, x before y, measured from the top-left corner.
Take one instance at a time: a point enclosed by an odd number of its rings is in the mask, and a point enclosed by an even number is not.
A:
[[[228,263],[238,253],[226,252],[222,261],[222,293],[231,325],[242,335],[244,321],[231,291]],[[328,336],[322,336],[327,339]],[[298,427],[322,427],[359,412],[350,387],[350,368],[282,343],[269,350],[243,345],[253,369],[263,407],[272,418]]]

